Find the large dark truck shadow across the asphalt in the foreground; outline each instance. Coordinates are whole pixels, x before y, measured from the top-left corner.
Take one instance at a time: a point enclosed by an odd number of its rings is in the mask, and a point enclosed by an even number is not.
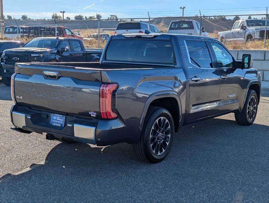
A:
[[[128,144],[60,143],[44,164],[32,164],[31,170],[0,178],[0,199],[266,202],[268,133],[266,125],[239,126],[221,118],[187,125],[174,137],[170,154],[158,164],[139,161]]]

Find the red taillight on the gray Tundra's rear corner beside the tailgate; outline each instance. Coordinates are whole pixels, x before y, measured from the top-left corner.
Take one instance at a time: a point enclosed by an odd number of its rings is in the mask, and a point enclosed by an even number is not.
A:
[[[112,110],[113,91],[118,88],[118,84],[102,84],[100,87],[100,113],[102,118],[117,118],[118,115]]]

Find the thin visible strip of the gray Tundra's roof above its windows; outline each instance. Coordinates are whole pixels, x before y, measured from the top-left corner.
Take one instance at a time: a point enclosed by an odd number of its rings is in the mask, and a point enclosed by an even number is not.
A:
[[[171,36],[179,36],[179,37],[189,37],[189,38],[202,38],[202,39],[214,39],[212,37],[204,37],[204,36],[199,36],[199,35],[183,35],[183,34],[170,34],[170,33],[150,33],[150,34],[145,34],[145,33],[134,33],[134,34],[118,34],[118,35],[113,35],[113,36],[160,36],[162,39],[170,39]],[[120,38],[120,37],[118,37]],[[126,37],[125,37],[126,38]],[[150,39],[150,37],[149,37]]]

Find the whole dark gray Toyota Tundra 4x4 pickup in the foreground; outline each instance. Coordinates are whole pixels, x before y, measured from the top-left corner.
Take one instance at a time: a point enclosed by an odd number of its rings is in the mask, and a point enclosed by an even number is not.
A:
[[[251,66],[209,37],[113,35],[100,63],[16,63],[11,121],[48,140],[134,144],[156,163],[182,125],[227,113],[254,122],[261,76]]]

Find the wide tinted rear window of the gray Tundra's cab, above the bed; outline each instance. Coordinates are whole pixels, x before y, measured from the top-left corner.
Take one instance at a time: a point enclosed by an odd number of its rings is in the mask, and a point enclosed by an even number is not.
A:
[[[106,60],[174,64],[174,51],[172,42],[168,40],[112,40],[106,51]]]

